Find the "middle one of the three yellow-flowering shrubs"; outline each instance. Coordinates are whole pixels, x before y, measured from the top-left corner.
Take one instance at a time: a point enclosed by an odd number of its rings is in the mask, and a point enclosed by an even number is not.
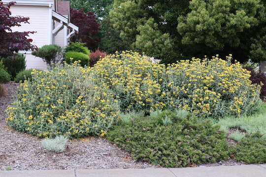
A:
[[[130,51],[100,59],[92,74],[113,91],[122,111],[150,111],[166,106],[161,95],[164,64]]]

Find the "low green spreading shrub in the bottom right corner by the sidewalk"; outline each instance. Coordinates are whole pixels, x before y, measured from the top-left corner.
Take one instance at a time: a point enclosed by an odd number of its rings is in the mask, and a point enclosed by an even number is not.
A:
[[[260,133],[246,135],[235,148],[231,149],[236,161],[245,163],[266,163],[266,140]]]

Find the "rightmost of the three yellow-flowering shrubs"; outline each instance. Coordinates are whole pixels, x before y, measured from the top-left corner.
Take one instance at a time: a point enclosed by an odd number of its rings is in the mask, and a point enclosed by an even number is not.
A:
[[[252,85],[250,72],[239,62],[192,59],[168,65],[167,103],[198,116],[248,114],[261,106],[260,86]]]

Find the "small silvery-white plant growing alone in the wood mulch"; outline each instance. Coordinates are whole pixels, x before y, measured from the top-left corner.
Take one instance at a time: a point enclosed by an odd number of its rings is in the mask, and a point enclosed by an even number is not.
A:
[[[43,148],[54,152],[63,152],[66,148],[66,142],[68,139],[64,136],[57,136],[55,138],[44,139],[41,142]]]

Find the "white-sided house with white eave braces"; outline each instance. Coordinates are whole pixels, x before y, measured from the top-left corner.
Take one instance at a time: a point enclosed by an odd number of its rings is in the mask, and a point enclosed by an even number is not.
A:
[[[66,0],[2,0],[11,6],[12,16],[29,17],[30,24],[12,28],[13,31],[36,31],[30,34],[32,44],[38,48],[48,44],[66,46],[69,39],[78,32],[78,27],[69,22],[69,1]],[[20,51],[26,55],[27,69],[46,69],[42,59],[31,55],[31,51]]]

